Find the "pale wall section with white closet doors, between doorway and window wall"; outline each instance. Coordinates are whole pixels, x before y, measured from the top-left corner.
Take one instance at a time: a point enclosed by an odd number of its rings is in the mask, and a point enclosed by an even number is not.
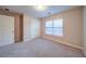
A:
[[[24,14],[24,41],[29,41],[36,37],[39,37],[39,21],[38,18],[32,17]]]

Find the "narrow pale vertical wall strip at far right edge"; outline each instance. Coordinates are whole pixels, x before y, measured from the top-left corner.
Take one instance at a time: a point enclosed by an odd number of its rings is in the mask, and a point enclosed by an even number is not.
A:
[[[86,7],[84,7],[84,54],[86,55]]]

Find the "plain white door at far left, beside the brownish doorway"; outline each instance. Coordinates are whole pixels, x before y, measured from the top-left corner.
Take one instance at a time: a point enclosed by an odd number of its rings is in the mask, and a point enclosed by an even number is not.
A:
[[[14,17],[0,15],[0,47],[14,43]]]

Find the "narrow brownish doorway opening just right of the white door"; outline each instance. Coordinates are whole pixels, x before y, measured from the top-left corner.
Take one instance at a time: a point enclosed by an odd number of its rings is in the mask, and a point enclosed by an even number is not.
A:
[[[14,42],[23,41],[23,15],[16,15],[14,21]]]

